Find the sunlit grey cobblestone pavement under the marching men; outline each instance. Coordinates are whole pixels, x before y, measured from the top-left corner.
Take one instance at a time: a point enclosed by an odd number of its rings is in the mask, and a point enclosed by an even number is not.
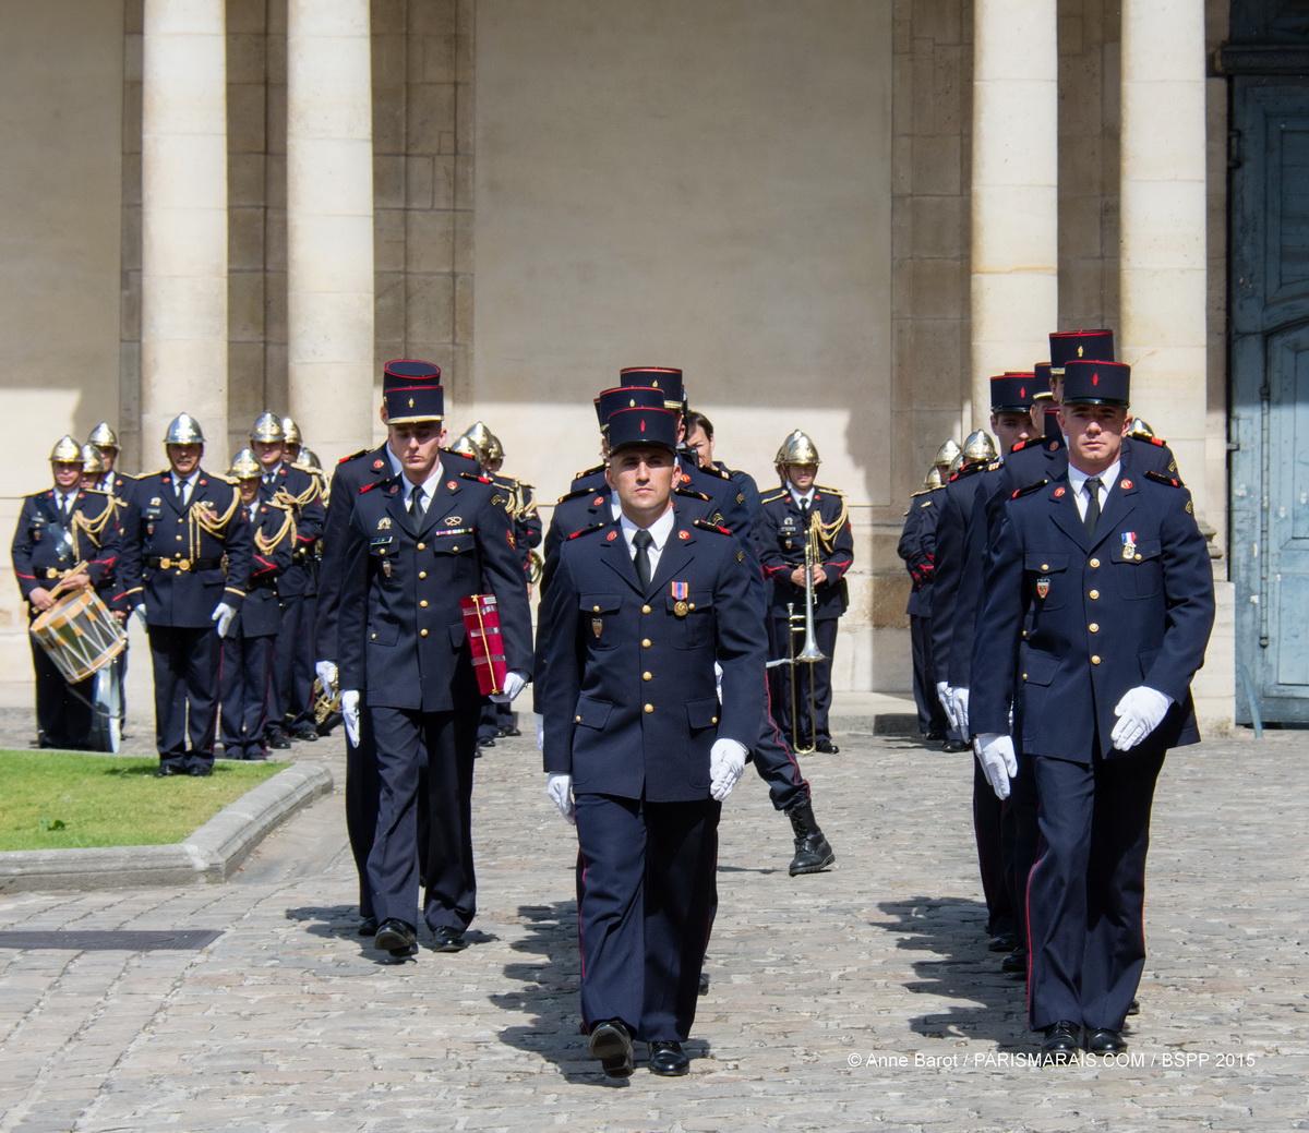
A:
[[[571,829],[522,738],[478,765],[462,954],[393,963],[353,934],[339,793],[225,886],[0,896],[0,1133],[1305,1129],[1306,739],[1170,756],[1123,1065],[1024,1064],[1022,984],[982,934],[967,759],[861,733],[805,764],[830,873],[789,878],[787,822],[758,778],[737,788],[691,1074],[606,1082],[577,1034]],[[339,782],[338,741],[295,754]],[[60,939],[181,929],[216,938]]]

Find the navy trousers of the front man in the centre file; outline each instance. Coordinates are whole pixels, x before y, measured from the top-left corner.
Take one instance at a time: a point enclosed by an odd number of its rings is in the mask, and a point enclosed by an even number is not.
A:
[[[713,799],[577,802],[581,1013],[647,1043],[683,1041],[717,907]]]

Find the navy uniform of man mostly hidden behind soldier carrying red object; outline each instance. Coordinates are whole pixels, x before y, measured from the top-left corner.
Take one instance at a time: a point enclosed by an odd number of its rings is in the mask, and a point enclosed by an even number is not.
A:
[[[476,461],[441,451],[442,464],[458,472],[475,472]],[[318,599],[314,618],[314,653],[319,661],[340,663],[340,593],[346,569],[346,547],[355,514],[355,500],[369,484],[390,479],[394,474],[390,451],[385,444],[342,457],[332,470],[327,515],[321,540]],[[346,688],[347,686],[340,686]],[[373,898],[368,884],[368,856],[373,849],[378,805],[377,750],[373,723],[367,712],[359,714],[359,744],[346,738],[346,836],[359,874],[359,912],[373,917]],[[425,822],[425,818],[423,819]]]

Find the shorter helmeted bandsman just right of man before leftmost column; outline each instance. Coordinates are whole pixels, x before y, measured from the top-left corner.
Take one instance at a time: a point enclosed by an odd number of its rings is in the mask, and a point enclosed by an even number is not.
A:
[[[296,552],[291,509],[262,497],[262,466],[250,449],[232,458],[228,476],[241,492],[241,509],[253,539],[250,587],[223,638],[223,712],[220,730],[228,759],[267,759],[272,648],[281,627],[278,578]]]

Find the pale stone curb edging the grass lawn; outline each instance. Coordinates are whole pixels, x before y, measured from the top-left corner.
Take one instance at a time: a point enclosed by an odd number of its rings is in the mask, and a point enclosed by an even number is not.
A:
[[[0,853],[0,892],[73,892],[225,882],[274,827],[332,792],[331,772],[297,763],[171,845]]]

